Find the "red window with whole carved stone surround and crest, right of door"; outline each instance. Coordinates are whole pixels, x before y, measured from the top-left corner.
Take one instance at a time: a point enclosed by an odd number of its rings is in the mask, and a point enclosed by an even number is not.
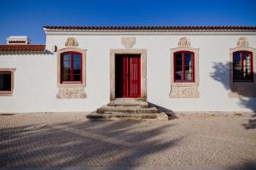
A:
[[[177,45],[178,48],[171,49],[170,97],[199,98],[199,49],[191,48],[187,37],[181,37]]]

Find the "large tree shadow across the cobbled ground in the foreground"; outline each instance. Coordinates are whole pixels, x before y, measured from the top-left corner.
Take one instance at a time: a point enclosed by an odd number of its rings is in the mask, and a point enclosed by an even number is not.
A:
[[[20,126],[0,129],[0,167],[139,166],[144,158],[167,150],[183,137],[162,139],[175,126],[145,122],[66,122],[35,131]]]

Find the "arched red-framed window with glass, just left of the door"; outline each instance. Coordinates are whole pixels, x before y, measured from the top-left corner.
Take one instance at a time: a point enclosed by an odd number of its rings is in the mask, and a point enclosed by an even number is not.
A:
[[[82,54],[67,52],[61,54],[61,83],[82,83]]]

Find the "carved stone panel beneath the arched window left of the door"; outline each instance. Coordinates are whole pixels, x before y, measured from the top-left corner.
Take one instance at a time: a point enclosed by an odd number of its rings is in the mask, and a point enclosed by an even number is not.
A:
[[[57,99],[84,99],[86,98],[84,88],[59,88]]]

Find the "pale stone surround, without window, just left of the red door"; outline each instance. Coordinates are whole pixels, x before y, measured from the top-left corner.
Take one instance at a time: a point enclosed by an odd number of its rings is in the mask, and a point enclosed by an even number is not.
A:
[[[65,52],[79,52],[82,54],[82,82],[61,83],[61,54]],[[83,99],[87,97],[84,92],[86,85],[86,49],[81,48],[61,48],[57,50],[57,87],[59,93],[56,95],[58,99]]]

